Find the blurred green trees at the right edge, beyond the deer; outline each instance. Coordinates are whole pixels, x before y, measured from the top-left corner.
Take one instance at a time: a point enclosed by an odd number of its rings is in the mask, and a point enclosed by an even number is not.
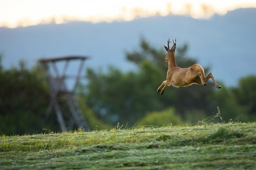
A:
[[[225,87],[214,93],[215,106],[220,107],[225,121],[256,121],[256,76],[248,75],[238,87]]]

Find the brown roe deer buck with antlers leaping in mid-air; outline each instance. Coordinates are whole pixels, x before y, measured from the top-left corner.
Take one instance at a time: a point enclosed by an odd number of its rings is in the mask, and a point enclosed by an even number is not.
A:
[[[176,65],[175,60],[175,50],[176,50],[176,39],[175,42],[173,41],[173,46],[169,48],[170,38],[167,41],[168,47],[164,46],[165,50],[167,51],[165,61],[168,62],[168,70],[166,75],[166,80],[162,82],[162,84],[157,88],[157,93],[160,92],[161,87],[164,86],[161,90],[161,95],[164,93],[166,86],[175,86],[175,87],[185,87],[190,86],[191,84],[198,84],[200,86],[207,85],[207,81],[209,78],[213,80],[216,88],[221,88],[219,86],[212,73],[209,73],[205,77],[204,75],[204,68],[199,64],[194,64],[189,68],[180,68]]]

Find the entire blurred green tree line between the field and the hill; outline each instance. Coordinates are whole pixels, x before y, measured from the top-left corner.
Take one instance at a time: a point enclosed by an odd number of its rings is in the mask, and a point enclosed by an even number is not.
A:
[[[197,63],[187,49],[188,44],[176,49],[177,66]],[[123,72],[114,66],[107,71],[86,69],[88,81],[79,85],[76,95],[91,130],[118,123],[195,123],[218,113],[218,108],[222,119],[214,122],[256,120],[256,75],[242,77],[236,87],[225,86],[216,77],[221,89],[216,89],[210,80],[207,86],[170,86],[160,95],[156,90],[166,79],[168,69],[165,50],[156,49],[142,38],[138,49],[125,53],[128,62],[136,65],[134,71]],[[209,68],[205,72],[209,73]],[[17,68],[4,69],[0,65],[0,135],[58,131],[55,114],[45,116],[48,104],[49,87],[38,65],[27,68],[24,61]]]

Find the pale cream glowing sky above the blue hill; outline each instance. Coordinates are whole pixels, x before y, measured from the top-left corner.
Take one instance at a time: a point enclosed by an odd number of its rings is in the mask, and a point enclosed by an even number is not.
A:
[[[69,20],[112,22],[152,15],[210,18],[238,8],[256,8],[256,0],[0,0],[0,26],[14,28]]]

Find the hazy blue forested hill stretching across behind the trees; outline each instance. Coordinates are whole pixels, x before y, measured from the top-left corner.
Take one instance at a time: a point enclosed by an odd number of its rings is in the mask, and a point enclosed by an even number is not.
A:
[[[209,20],[168,15],[138,18],[129,22],[97,24],[67,22],[40,24],[14,29],[0,27],[2,65],[9,68],[25,59],[29,66],[39,58],[63,55],[89,55],[86,66],[116,66],[124,71],[135,66],[127,62],[124,51],[137,49],[143,36],[156,48],[168,38],[177,46],[189,44],[189,56],[202,66],[211,66],[216,80],[236,85],[247,74],[256,74],[256,9],[237,9]],[[164,60],[164,56],[163,56]],[[221,84],[221,83],[219,83]]]

